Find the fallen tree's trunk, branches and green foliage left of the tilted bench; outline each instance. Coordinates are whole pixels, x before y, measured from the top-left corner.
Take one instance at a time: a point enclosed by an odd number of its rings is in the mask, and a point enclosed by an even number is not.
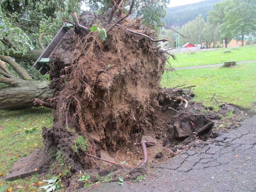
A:
[[[49,82],[31,66],[80,0],[0,2],[0,109],[33,105],[51,97]],[[71,19],[71,18],[70,18]],[[33,80],[34,79],[34,80]]]

